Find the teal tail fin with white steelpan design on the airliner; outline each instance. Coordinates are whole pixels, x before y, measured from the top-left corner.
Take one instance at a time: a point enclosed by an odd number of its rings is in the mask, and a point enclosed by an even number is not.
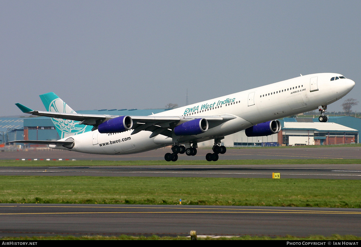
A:
[[[48,112],[76,113],[55,93],[47,93],[39,96]],[[61,118],[51,118],[51,120],[58,131],[60,139],[91,131],[92,129],[92,126],[89,125],[79,125],[79,121]]]

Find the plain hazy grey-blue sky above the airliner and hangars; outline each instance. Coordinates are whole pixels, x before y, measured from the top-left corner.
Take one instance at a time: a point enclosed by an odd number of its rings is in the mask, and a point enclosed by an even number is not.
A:
[[[0,3],[0,116],[51,91],[74,110],[164,108],[321,72],[361,102],[361,1]]]

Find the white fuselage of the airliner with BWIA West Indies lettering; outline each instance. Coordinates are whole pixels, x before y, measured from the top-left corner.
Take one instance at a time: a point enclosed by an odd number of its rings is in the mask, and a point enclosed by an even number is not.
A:
[[[154,114],[154,116],[180,116],[201,118],[202,116],[231,115],[234,119],[212,127],[202,134],[179,136],[177,143],[190,143],[230,135],[257,123],[313,111],[320,105],[328,105],[345,96],[355,82],[349,79],[330,81],[335,73],[318,73],[292,78],[274,84],[256,87],[204,102],[179,107]],[[74,135],[74,147],[70,150],[96,154],[130,154],[149,151],[173,144],[174,138],[164,135],[151,136],[151,131],[133,130],[122,133],[101,134],[97,130]],[[64,139],[65,140],[65,139]],[[60,145],[51,148],[67,149]]]

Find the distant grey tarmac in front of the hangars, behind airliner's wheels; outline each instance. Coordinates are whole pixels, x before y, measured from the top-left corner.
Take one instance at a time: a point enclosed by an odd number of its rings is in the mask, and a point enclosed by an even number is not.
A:
[[[198,148],[196,156],[179,154],[179,160],[205,160],[205,155],[212,152],[210,148]],[[227,149],[219,155],[219,160],[264,160],[264,159],[361,159],[361,147],[296,147],[296,148],[243,148]],[[25,159],[76,159],[76,160],[164,160],[164,154],[171,152],[170,147],[127,155],[86,154],[72,151],[19,151],[1,152],[1,160]],[[176,162],[175,162],[176,163]]]

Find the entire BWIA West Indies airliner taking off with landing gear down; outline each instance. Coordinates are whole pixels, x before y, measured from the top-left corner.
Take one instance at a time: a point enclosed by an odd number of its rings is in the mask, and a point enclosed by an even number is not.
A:
[[[355,82],[337,73],[300,75],[149,116],[78,114],[54,93],[40,95],[47,111],[17,103],[24,113],[51,117],[61,137],[57,141],[17,140],[50,148],[93,154],[132,154],[170,146],[166,161],[178,154],[194,156],[197,143],[214,140],[207,161],[226,152],[221,140],[245,130],[247,136],[278,133],[278,118],[319,109],[326,122],[327,105],[348,94]]]

